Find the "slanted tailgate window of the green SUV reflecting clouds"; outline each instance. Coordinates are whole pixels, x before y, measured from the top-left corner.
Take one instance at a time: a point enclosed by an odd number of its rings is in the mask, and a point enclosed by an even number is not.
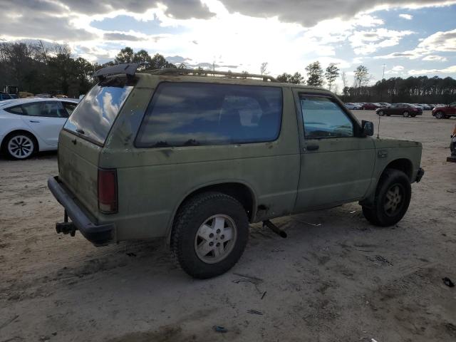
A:
[[[126,78],[101,81],[84,96],[63,128],[103,145],[131,90],[133,84]]]

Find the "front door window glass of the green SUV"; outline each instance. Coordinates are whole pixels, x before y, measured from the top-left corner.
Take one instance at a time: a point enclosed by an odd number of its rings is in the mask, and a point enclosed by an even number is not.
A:
[[[300,95],[304,138],[353,137],[353,122],[342,108],[325,96]]]

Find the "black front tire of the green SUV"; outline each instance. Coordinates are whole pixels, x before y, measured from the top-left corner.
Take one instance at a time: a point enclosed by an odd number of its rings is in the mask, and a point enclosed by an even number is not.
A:
[[[392,195],[396,189],[400,194],[400,200],[398,200],[399,197]],[[377,190],[375,190],[373,206],[363,206],[364,217],[375,226],[392,226],[404,217],[411,197],[412,187],[407,175],[399,170],[386,169],[380,177]],[[386,207],[394,201],[397,202],[396,207],[388,212],[389,209]]]

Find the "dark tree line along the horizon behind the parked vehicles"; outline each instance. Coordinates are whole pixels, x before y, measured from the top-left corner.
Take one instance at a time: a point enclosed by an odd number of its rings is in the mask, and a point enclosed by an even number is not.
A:
[[[119,63],[139,63],[140,70],[160,68],[186,68],[180,63],[175,66],[166,61],[160,53],[150,56],[141,49],[133,51],[122,48],[113,61],[90,63],[85,58],[75,58],[66,45],[43,43],[0,43],[0,87],[19,86],[19,90],[29,93],[51,93],[77,98],[93,86],[91,75],[100,68]],[[268,63],[261,63],[261,74],[267,74]],[[202,68],[197,68],[204,74]],[[353,83],[349,85],[346,72],[341,72],[335,63],[323,69],[319,61],[305,68],[305,76],[299,71],[294,74],[282,73],[277,80],[285,83],[325,86],[335,93],[341,93],[345,102],[410,102],[410,103],[450,103],[456,100],[456,80],[450,77],[410,76],[382,79],[373,85],[366,66],[358,66],[353,71]],[[247,74],[247,71],[243,73]],[[341,91],[336,86],[338,78],[343,85]],[[0,90],[1,90],[0,89]]]

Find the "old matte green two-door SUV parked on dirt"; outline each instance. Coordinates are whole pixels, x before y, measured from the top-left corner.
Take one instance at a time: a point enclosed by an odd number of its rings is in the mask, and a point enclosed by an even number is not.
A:
[[[61,131],[57,232],[96,246],[165,237],[204,279],[236,264],[250,223],[277,232],[269,219],[359,201],[369,222],[395,224],[423,176],[420,142],[372,138],[326,89],[136,68],[95,73]]]

